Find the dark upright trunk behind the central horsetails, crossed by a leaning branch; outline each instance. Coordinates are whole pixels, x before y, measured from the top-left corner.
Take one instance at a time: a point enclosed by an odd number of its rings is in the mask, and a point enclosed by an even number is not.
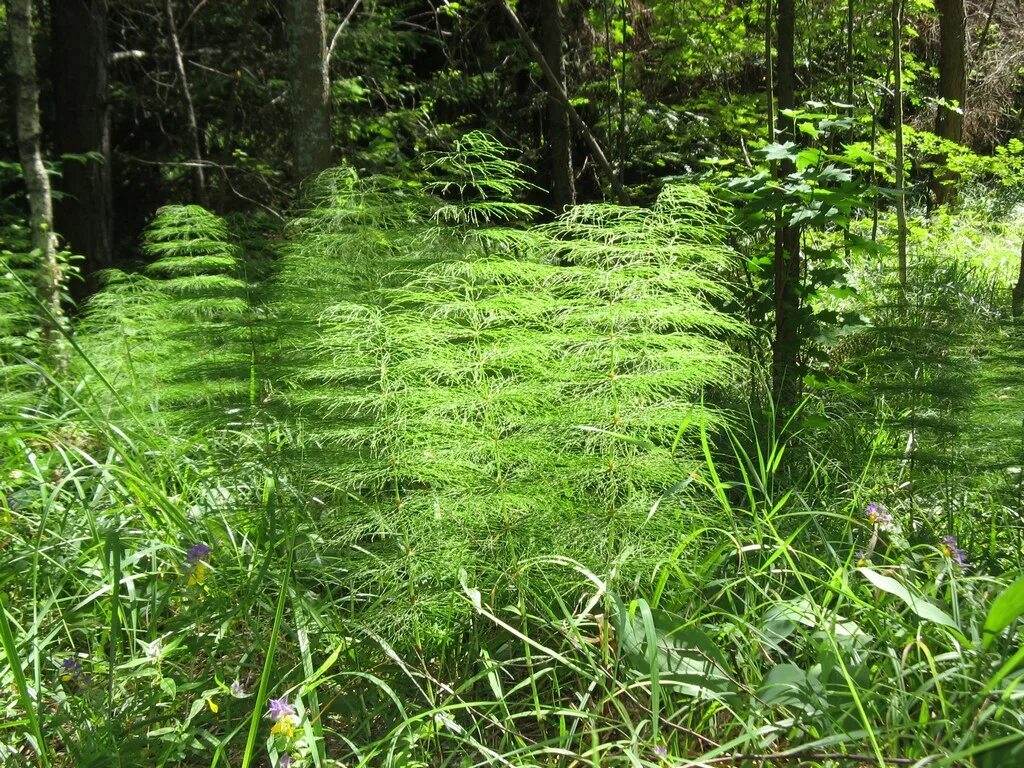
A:
[[[541,51],[551,67],[561,90],[565,86],[565,56],[562,52],[562,9],[560,0],[541,0]],[[575,203],[572,171],[572,131],[562,101],[548,89],[548,159],[551,163],[551,208],[560,212]]]

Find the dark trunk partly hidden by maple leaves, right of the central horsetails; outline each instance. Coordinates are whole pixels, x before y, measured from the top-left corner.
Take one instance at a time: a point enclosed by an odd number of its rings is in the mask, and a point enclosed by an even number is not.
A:
[[[781,113],[797,105],[795,59],[796,18],[794,0],[778,0],[775,14],[778,50],[779,133],[794,133],[793,120]],[[784,161],[781,175],[793,173],[792,161]],[[775,339],[772,343],[772,394],[775,399],[776,423],[781,425],[800,401],[800,317],[801,317],[801,254],[800,229],[783,224],[775,231]]]

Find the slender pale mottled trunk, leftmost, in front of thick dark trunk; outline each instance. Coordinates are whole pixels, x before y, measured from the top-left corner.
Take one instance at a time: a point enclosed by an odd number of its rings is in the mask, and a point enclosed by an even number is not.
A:
[[[10,34],[10,66],[15,86],[17,154],[22,161],[29,198],[32,248],[39,260],[36,279],[40,305],[39,324],[44,351],[62,370],[68,362],[60,335],[63,310],[60,289],[63,274],[57,260],[57,240],[53,233],[53,199],[50,180],[43,166],[39,122],[39,80],[32,46],[32,0],[7,0],[7,31]]]

